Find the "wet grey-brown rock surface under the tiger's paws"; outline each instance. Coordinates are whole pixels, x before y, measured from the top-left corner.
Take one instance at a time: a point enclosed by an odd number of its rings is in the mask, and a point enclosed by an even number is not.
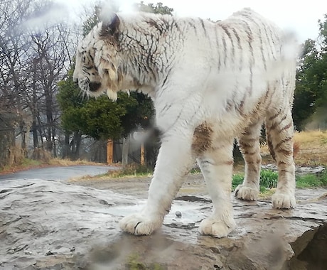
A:
[[[326,269],[326,189],[297,190],[298,205],[287,211],[232,195],[237,228],[215,239],[197,231],[211,210],[201,175],[188,177],[150,237],[118,228],[144,205],[149,178],[78,184],[1,185],[0,269]]]

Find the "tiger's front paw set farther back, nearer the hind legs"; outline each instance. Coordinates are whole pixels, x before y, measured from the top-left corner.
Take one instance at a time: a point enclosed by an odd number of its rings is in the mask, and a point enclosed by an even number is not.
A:
[[[201,234],[212,235],[213,237],[227,237],[227,235],[232,232],[235,228],[235,221],[230,218],[228,222],[223,220],[216,220],[213,217],[208,217],[202,220],[199,226],[199,232]]]

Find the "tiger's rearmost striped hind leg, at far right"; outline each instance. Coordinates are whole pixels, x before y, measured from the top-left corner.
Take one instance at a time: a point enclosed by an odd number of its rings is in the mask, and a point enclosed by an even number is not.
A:
[[[293,208],[295,200],[295,164],[293,160],[294,126],[291,108],[286,106],[270,112],[266,117],[266,130],[270,151],[274,154],[278,168],[278,184],[272,196],[274,208]]]

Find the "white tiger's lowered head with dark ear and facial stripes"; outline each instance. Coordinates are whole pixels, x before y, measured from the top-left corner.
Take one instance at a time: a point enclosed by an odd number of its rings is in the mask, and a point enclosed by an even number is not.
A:
[[[98,23],[77,45],[73,80],[86,95],[106,93],[116,100],[117,91],[124,90],[119,68],[119,24],[119,17],[114,14],[109,23]]]

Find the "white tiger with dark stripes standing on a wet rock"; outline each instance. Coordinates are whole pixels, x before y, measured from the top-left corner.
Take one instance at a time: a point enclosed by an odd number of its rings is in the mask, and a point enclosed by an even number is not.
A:
[[[251,9],[225,21],[137,13],[99,23],[77,48],[74,80],[87,95],[140,90],[156,109],[162,144],[144,210],[124,217],[123,231],[161,227],[195,158],[213,200],[199,231],[225,237],[235,227],[230,201],[235,138],[245,180],[235,195],[257,200],[259,135],[265,122],[279,182],[276,208],[296,205],[293,161],[295,54],[287,38]],[[293,50],[295,51],[295,50]]]

